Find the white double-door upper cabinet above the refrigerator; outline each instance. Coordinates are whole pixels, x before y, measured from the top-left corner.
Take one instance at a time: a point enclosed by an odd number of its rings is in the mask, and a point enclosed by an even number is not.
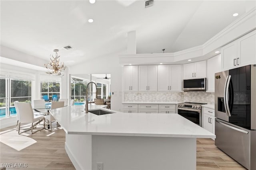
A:
[[[221,48],[221,69],[256,64],[256,30]]]

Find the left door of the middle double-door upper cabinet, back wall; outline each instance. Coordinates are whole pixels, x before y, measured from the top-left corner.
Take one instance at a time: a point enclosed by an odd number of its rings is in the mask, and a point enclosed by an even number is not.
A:
[[[148,91],[148,66],[139,66],[139,91]]]

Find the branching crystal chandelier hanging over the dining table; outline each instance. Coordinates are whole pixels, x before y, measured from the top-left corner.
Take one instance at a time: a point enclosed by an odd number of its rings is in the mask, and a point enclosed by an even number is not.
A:
[[[53,55],[50,55],[50,61],[47,64],[44,64],[44,66],[47,68],[48,72],[47,74],[50,75],[62,75],[61,72],[65,70],[66,66],[64,63],[60,63],[60,55],[58,55],[58,49],[55,49],[54,52],[55,57]]]

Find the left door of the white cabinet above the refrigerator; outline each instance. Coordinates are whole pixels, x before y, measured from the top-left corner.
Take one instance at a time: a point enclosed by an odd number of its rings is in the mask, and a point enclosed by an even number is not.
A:
[[[255,48],[255,47],[254,47]],[[221,68],[229,70],[236,68],[237,41],[233,41],[221,48]]]

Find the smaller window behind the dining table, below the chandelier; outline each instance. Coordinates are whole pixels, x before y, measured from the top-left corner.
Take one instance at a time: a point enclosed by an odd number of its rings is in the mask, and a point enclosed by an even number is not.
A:
[[[48,96],[52,100],[52,95],[56,95],[60,99],[60,83],[59,82],[41,82],[41,98]]]

